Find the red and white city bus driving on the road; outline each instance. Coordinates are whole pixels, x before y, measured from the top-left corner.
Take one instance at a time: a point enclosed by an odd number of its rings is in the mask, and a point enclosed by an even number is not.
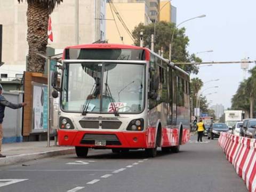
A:
[[[189,140],[189,74],[169,60],[144,47],[87,44],[66,47],[60,68],[58,141],[78,157],[89,148],[154,157]]]

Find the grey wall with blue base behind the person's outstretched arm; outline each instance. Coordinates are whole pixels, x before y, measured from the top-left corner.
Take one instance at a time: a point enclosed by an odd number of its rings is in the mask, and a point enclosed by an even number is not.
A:
[[[21,103],[23,94],[17,92],[4,92],[4,97],[13,103]],[[5,108],[5,116],[3,121],[4,139],[3,143],[21,142],[22,141],[22,108],[11,109]]]

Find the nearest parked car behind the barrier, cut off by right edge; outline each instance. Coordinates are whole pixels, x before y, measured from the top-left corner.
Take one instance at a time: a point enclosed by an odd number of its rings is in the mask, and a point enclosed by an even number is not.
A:
[[[256,119],[244,119],[241,136],[256,138]]]

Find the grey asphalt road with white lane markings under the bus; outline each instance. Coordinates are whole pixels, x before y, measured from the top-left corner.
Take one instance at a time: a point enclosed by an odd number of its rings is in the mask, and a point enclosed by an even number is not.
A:
[[[226,160],[217,139],[181,146],[178,154],[155,158],[143,151],[113,154],[89,150],[86,159],[75,155],[1,167],[1,192],[186,192],[247,191]]]

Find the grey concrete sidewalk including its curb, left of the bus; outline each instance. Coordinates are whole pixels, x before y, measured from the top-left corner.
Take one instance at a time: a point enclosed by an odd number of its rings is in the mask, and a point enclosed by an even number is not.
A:
[[[6,143],[2,145],[2,154],[6,157],[0,158],[0,166],[73,153],[74,147],[54,146],[54,141],[51,147],[47,147],[47,141]]]

